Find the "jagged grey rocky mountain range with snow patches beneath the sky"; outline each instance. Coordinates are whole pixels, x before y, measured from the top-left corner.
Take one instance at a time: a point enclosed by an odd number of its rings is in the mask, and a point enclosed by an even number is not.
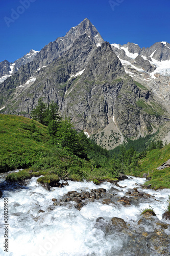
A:
[[[158,131],[170,142],[170,44],[109,44],[85,18],[40,51],[0,63],[0,113],[30,117],[40,98],[114,148]]]

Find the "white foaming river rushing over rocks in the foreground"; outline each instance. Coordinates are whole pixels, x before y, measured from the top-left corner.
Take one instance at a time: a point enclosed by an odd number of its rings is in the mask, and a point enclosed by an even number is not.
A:
[[[51,188],[51,191],[47,191],[37,184],[37,178],[27,181],[26,186],[8,184],[2,178],[0,184],[0,190],[3,191],[3,198],[0,200],[0,255],[170,255],[168,253],[170,221],[162,220],[170,189],[157,191],[142,189],[141,185],[145,182],[144,178],[128,177],[129,179],[119,181],[119,186],[109,182],[95,185],[93,182],[68,181],[68,186],[54,187]],[[140,197],[136,201],[132,200],[130,205],[117,202],[121,197],[129,198],[130,195],[127,192],[133,191],[134,187],[139,192],[142,191],[151,196],[148,198]],[[107,193],[115,198],[115,201],[112,200],[112,203],[103,204],[102,199],[93,200],[80,210],[74,207],[75,202],[72,201],[59,206],[53,205],[52,199],[55,198],[59,202],[68,191],[75,190],[78,193],[83,193],[83,191],[90,192],[91,189],[99,188],[105,188]],[[3,248],[5,240],[3,229],[4,198],[8,198],[8,252],[4,251]],[[164,232],[163,236],[166,236],[166,244],[160,246],[160,251],[158,249],[155,251],[155,247],[152,249],[152,246],[145,248],[145,241],[148,239],[145,233],[151,232],[151,226],[147,224],[144,226],[143,224],[140,226],[140,231],[139,225],[137,225],[141,209],[149,206],[153,207],[157,218],[168,225],[168,228],[162,231]],[[122,218],[127,224],[128,231],[119,231],[119,229],[113,228],[110,224],[113,217]],[[138,238],[140,232],[143,235],[141,235],[142,239],[139,238],[138,252],[135,252],[137,240],[133,237]],[[161,236],[161,234],[159,235]],[[130,245],[133,242],[134,245]],[[165,254],[162,253],[162,248],[164,248]]]

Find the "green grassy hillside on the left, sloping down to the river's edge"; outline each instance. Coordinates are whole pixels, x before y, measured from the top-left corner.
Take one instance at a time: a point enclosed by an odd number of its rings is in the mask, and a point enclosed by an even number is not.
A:
[[[108,157],[99,146],[89,145],[89,159],[71,154],[52,143],[48,127],[22,116],[0,115],[0,173],[23,168],[7,180],[19,181],[32,176],[58,175],[61,179],[95,180],[114,178],[107,167]]]

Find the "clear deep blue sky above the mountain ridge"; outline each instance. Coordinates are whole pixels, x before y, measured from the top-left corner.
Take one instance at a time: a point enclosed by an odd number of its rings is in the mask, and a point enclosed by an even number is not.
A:
[[[110,44],[130,41],[150,47],[170,42],[169,0],[112,2],[116,5],[111,7],[109,0],[1,0],[0,62],[13,62],[31,49],[40,51],[85,17]]]

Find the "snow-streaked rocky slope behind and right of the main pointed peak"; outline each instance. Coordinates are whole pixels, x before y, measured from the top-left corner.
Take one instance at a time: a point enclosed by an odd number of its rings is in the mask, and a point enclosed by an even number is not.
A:
[[[170,44],[156,42],[149,48],[137,44],[112,44],[112,49],[122,62],[125,72],[146,86],[164,105],[170,104]]]

